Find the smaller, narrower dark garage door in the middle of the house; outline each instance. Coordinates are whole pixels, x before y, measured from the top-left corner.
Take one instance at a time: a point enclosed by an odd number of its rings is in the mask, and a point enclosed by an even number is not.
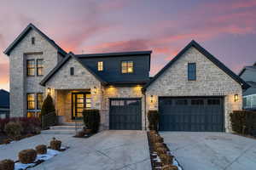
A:
[[[110,99],[109,128],[142,130],[141,99]]]

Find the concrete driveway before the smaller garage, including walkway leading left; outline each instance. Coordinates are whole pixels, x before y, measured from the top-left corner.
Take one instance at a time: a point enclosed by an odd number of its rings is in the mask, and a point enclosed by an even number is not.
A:
[[[77,139],[67,134],[40,134],[14,144],[0,146],[0,160],[17,160],[20,150],[48,144],[55,136],[70,149],[33,169],[61,170],[148,170],[151,169],[148,139],[143,131],[103,131],[89,139]]]

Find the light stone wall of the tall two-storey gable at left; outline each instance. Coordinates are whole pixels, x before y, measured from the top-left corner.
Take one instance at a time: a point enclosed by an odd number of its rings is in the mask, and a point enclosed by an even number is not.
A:
[[[31,37],[35,37],[32,45]],[[32,54],[43,52],[43,54]],[[29,31],[9,56],[10,114],[26,116],[26,93],[42,93],[44,87],[39,82],[44,77],[26,77],[26,59],[44,59],[44,76],[57,64],[57,50],[38,34]]]

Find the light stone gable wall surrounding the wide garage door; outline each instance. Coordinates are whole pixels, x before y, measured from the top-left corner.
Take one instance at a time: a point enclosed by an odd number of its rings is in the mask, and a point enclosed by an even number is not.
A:
[[[188,81],[187,65],[196,63],[196,81]],[[234,101],[234,95],[239,100]],[[147,111],[158,110],[159,96],[224,96],[225,130],[230,132],[230,112],[241,110],[241,85],[220,70],[196,48],[189,48],[146,91]],[[153,103],[150,103],[153,95]]]

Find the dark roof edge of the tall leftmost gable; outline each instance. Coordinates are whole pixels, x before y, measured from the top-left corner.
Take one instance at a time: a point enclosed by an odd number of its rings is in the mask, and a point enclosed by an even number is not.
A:
[[[26,28],[20,33],[20,35],[18,37],[16,37],[15,41],[12,42],[8,48],[6,48],[4,50],[4,54],[9,55],[10,52],[16,47],[16,45],[24,38],[26,37],[26,34],[31,31],[37,31],[38,34],[40,34],[42,37],[44,37],[54,48],[56,48],[58,50],[58,52],[60,54],[62,54],[63,56],[65,56],[67,53],[60,47],[58,46],[52,39],[50,39],[49,37],[47,37],[44,32],[40,31],[36,26],[32,25],[32,23],[30,23],[28,26],[26,26]]]

